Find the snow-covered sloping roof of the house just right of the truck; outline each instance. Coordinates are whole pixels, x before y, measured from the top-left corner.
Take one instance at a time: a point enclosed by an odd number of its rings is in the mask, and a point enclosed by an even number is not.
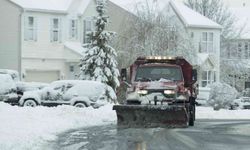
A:
[[[171,0],[170,6],[174,9],[187,27],[222,28],[221,25],[188,8],[182,3]]]

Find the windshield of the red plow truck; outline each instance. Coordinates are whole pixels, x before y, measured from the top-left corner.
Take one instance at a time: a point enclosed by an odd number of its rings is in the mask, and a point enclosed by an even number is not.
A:
[[[135,76],[135,81],[158,81],[160,79],[182,80],[181,68],[172,66],[139,67]]]

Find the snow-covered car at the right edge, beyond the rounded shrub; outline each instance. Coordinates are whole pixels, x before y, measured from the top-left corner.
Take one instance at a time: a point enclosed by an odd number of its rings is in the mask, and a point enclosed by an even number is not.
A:
[[[240,97],[238,99],[233,100],[230,105],[231,109],[250,109],[250,97]]]

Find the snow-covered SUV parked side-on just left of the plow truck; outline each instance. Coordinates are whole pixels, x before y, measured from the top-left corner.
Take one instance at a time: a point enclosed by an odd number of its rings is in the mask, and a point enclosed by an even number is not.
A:
[[[110,92],[111,98],[106,96],[106,92]],[[60,80],[52,82],[41,90],[24,92],[19,104],[31,107],[65,104],[98,108],[110,99],[116,99],[116,95],[111,87],[103,83],[87,80]]]

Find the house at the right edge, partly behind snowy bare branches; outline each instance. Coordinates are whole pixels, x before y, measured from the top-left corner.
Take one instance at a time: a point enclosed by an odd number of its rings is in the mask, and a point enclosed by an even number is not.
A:
[[[230,9],[238,19],[237,28],[243,32],[231,40],[222,57],[234,68],[225,75],[227,82],[241,91],[250,88],[250,5],[244,2]]]

